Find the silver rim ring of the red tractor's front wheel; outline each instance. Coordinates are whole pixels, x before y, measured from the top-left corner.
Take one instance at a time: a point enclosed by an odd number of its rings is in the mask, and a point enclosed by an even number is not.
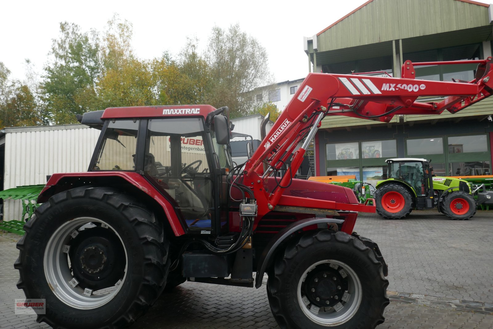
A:
[[[320,264],[329,264],[343,277],[346,275],[345,278],[348,281],[348,289],[344,292],[346,300],[341,299],[334,307],[317,307],[302,292],[302,286],[308,274]],[[346,323],[356,314],[361,304],[362,288],[358,276],[351,267],[338,260],[326,259],[316,262],[303,273],[298,283],[297,295],[301,310],[311,321],[321,326],[333,327]]]

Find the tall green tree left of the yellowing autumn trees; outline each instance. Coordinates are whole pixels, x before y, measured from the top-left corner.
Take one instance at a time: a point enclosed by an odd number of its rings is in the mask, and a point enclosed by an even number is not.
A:
[[[60,33],[40,89],[50,120],[66,124],[75,122],[75,114],[99,110],[95,85],[102,69],[97,32],[82,33],[78,25],[63,22]]]

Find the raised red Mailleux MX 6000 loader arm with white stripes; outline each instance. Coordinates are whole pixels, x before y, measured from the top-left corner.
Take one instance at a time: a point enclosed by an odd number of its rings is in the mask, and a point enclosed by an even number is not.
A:
[[[415,79],[415,66],[477,63],[475,79],[469,82],[427,81]],[[276,123],[246,162],[244,182],[257,199],[259,217],[278,205],[282,192],[301,165],[306,148],[315,136],[320,121],[327,115],[345,115],[389,122],[396,114],[456,113],[493,93],[492,58],[457,62],[412,63],[405,61],[402,78],[360,74],[309,73],[287,104]],[[444,96],[438,103],[417,102],[418,97]],[[264,170],[264,165],[267,168]],[[283,170],[276,187],[267,181]],[[272,178],[271,178],[272,179]],[[292,200],[291,200],[292,201]],[[353,205],[344,210],[365,210]],[[334,208],[320,201],[319,208]],[[374,210],[373,210],[374,212]]]

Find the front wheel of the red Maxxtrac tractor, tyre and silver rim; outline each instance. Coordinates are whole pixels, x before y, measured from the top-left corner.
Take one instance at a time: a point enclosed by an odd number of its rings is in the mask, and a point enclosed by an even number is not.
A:
[[[387,286],[370,248],[325,229],[304,234],[276,257],[267,296],[282,329],[375,328],[384,322]]]

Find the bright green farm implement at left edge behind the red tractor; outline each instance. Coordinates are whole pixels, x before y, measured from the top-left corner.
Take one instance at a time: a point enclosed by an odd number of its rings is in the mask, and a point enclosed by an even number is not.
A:
[[[22,218],[20,220],[0,221],[0,230],[24,235],[24,223],[33,217],[36,208],[37,196],[43,185],[26,185],[0,191],[0,199],[22,200]]]

